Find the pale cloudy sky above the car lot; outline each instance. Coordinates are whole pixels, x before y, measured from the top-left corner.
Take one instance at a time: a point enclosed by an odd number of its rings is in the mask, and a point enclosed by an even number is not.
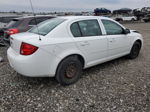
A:
[[[35,12],[150,7],[150,0],[32,0]],[[0,11],[32,11],[30,0],[0,0]]]

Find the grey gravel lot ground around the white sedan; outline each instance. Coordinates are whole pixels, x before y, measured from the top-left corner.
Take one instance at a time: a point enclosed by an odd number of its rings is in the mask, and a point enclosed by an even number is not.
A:
[[[135,60],[120,58],[84,71],[74,85],[53,78],[17,75],[0,63],[0,112],[150,112],[150,23],[125,24],[140,31],[145,45]]]

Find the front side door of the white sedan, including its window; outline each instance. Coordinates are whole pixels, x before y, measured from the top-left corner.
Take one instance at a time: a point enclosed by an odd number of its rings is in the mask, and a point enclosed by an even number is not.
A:
[[[130,49],[130,36],[124,34],[124,28],[111,20],[102,20],[108,38],[108,55],[126,54]]]

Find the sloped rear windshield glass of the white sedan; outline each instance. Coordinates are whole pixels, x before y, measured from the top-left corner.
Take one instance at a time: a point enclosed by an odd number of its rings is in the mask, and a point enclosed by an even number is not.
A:
[[[60,18],[50,19],[33,27],[29,32],[45,36],[64,21],[65,19]]]

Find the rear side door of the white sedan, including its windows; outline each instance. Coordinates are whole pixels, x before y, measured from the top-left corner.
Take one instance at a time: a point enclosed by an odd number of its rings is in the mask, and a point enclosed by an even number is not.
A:
[[[77,47],[88,60],[87,65],[99,63],[107,56],[107,38],[102,35],[97,19],[82,20],[71,25]]]

